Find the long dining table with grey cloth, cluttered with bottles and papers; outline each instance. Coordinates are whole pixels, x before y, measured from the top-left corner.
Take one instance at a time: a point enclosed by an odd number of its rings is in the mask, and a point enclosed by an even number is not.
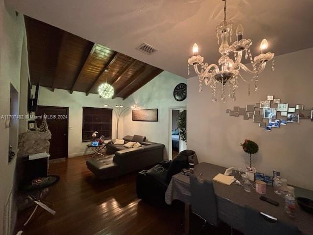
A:
[[[212,180],[217,174],[224,174],[225,170],[226,167],[202,162],[195,165],[194,174],[197,177],[201,176],[199,178],[202,180]],[[236,178],[239,179],[239,175],[237,175]],[[240,232],[244,231],[244,207],[249,206],[257,211],[277,218],[278,221],[298,227],[299,234],[301,235],[313,235],[313,214],[303,211],[299,205],[296,204],[295,217],[291,218],[285,212],[284,198],[276,194],[273,187],[267,185],[266,194],[264,196],[278,202],[278,206],[260,200],[262,194],[257,193],[253,188],[251,188],[250,192],[246,192],[243,186],[235,183],[228,186],[213,180],[212,182],[217,198],[219,219],[232,228]],[[296,197],[313,197],[313,191],[311,190],[298,187],[294,188]],[[191,210],[191,192],[188,175],[178,173],[172,177],[165,193],[165,202],[171,205],[173,200],[180,200],[185,203],[184,230],[185,235],[188,235],[189,215]]]

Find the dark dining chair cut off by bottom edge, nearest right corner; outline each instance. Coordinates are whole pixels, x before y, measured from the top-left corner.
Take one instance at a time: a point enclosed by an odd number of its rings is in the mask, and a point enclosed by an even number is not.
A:
[[[245,235],[299,235],[298,228],[245,207]]]

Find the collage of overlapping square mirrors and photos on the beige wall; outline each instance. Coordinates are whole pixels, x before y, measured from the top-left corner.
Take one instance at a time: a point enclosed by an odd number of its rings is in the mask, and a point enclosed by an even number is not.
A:
[[[304,109],[303,104],[291,107],[289,103],[281,103],[281,99],[275,98],[274,95],[268,95],[267,99],[260,100],[260,103],[248,104],[246,108],[227,109],[226,113],[229,116],[243,116],[245,120],[252,119],[265,131],[280,128],[288,123],[299,123],[300,119],[313,121],[313,108]]]

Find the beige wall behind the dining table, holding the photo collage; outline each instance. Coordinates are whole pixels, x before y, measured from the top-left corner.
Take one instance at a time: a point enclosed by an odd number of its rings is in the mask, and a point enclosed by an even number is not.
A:
[[[300,123],[264,131],[252,119],[230,117],[226,109],[258,103],[267,95],[275,95],[281,102],[304,104],[313,107],[312,69],[313,48],[275,57],[275,71],[268,68],[259,76],[259,91],[247,95],[247,86],[241,81],[237,101],[211,102],[211,90],[204,87],[198,92],[198,78],[188,79],[187,136],[188,148],[197,152],[200,162],[244,168],[248,154],[239,145],[245,139],[256,141],[260,150],[253,155],[253,164],[260,172],[272,175],[273,168],[290,184],[313,189],[313,122],[301,119]],[[245,78],[249,75],[245,74]]]

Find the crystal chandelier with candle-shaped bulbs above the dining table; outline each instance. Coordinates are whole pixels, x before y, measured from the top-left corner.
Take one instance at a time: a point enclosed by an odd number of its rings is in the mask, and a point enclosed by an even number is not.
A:
[[[213,102],[217,101],[216,89],[218,84],[221,85],[221,100],[225,102],[227,86],[229,90],[228,96],[235,101],[235,90],[239,85],[238,78],[241,78],[248,84],[248,94],[250,94],[250,81],[243,78],[240,74],[240,69],[253,75],[251,81],[254,82],[254,90],[258,91],[258,75],[265,69],[266,63],[274,57],[274,53],[267,52],[268,42],[266,39],[263,39],[260,46],[261,53],[253,59],[250,51],[252,41],[243,38],[244,27],[241,24],[238,24],[236,29],[237,41],[229,46],[228,40],[232,42],[232,34],[233,23],[226,21],[226,0],[224,0],[224,21],[216,27],[218,44],[220,44],[221,39],[219,52],[222,55],[218,61],[218,65],[203,63],[203,57],[198,55],[198,45],[196,43],[193,46],[193,56],[188,59],[188,74],[189,65],[193,65],[199,77],[199,92],[202,91],[202,81],[204,81],[204,84],[210,86],[212,89]],[[231,52],[234,54],[234,60],[229,58]],[[250,59],[252,70],[241,63],[243,53],[245,53],[246,59]],[[198,66],[200,66],[200,70]],[[272,60],[272,71],[274,71],[274,60]]]

